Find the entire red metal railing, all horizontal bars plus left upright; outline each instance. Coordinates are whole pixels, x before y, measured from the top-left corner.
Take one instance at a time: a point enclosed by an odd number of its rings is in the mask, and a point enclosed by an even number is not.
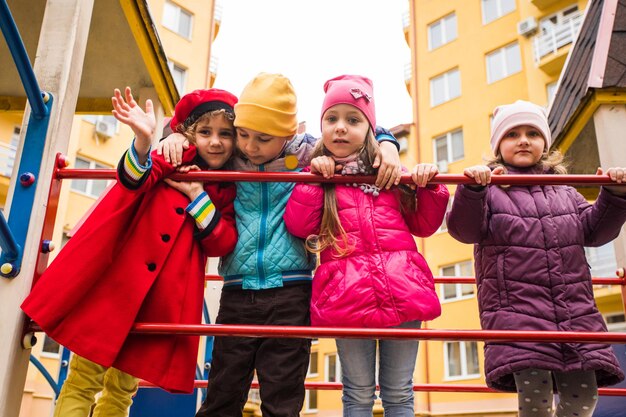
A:
[[[63,156],[57,155],[56,170],[51,184],[49,207],[56,212],[61,179],[114,179],[114,170],[67,169],[67,162]],[[373,183],[373,176],[335,176],[325,179],[310,173],[284,172],[239,172],[239,171],[196,171],[187,174],[174,174],[177,180],[187,181],[254,181],[254,182],[314,182],[314,183]],[[411,184],[409,175],[403,175],[403,184]],[[432,184],[473,184],[473,180],[464,175],[438,174]],[[616,185],[608,175],[501,175],[492,176],[492,184],[510,185]],[[622,184],[626,185],[626,184]],[[54,214],[46,214],[46,223],[54,221]],[[51,236],[52,227],[44,224],[42,239]],[[45,260],[45,262],[44,262]],[[38,262],[36,275],[45,269],[47,259]],[[594,285],[626,285],[623,270],[618,278],[592,278]],[[35,276],[36,280],[37,276]],[[207,275],[207,280],[220,280],[217,275]],[[34,280],[34,281],[35,281]],[[475,283],[473,277],[435,277],[436,283]],[[25,326],[25,332],[41,331],[35,323]],[[184,334],[184,335],[213,335],[213,336],[244,336],[244,337],[280,337],[280,338],[371,338],[371,339],[410,339],[410,340],[465,340],[465,341],[532,341],[532,342],[580,342],[580,343],[613,343],[626,344],[626,333],[606,332],[556,332],[556,331],[499,331],[499,330],[436,330],[436,329],[356,329],[356,328],[328,328],[305,326],[255,326],[255,325],[180,325],[168,323],[136,323],[132,333],[151,334]],[[148,336],[147,336],[148,337]],[[27,337],[25,337],[27,339]],[[142,387],[153,387],[152,384],[142,381]],[[204,388],[205,380],[196,380],[195,386]],[[258,387],[253,382],[253,388]],[[307,382],[307,389],[337,390],[340,383]],[[496,393],[483,385],[474,384],[417,384],[414,391],[429,392],[473,392]],[[604,396],[626,396],[624,388],[600,388],[599,394]]]

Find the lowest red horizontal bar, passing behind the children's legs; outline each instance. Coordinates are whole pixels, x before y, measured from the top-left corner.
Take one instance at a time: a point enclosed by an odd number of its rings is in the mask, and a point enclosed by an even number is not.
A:
[[[154,384],[144,380],[139,381],[139,386],[142,388],[156,388]],[[206,388],[208,386],[208,381],[204,379],[196,379],[193,386],[194,388]],[[308,390],[333,391],[341,390],[343,385],[340,382],[307,381],[304,383],[304,387]],[[259,382],[252,381],[252,388],[258,389]],[[380,388],[377,386],[376,389]],[[496,391],[485,385],[478,384],[415,384],[413,385],[413,391],[513,394],[511,392]],[[626,388],[599,388],[598,393],[603,396],[626,397]]]

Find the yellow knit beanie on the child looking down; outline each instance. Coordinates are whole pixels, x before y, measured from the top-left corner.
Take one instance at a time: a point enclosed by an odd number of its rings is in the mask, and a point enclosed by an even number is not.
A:
[[[245,86],[235,105],[235,126],[272,136],[298,131],[296,93],[281,74],[260,73]]]

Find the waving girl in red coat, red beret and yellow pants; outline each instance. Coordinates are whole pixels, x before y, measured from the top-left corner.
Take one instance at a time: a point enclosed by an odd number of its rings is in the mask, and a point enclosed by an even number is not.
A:
[[[129,332],[135,322],[201,323],[206,258],[228,254],[237,241],[234,185],[166,178],[175,168],[149,152],[152,102],[144,112],[128,87],[125,97],[116,89],[112,101],[115,117],[136,135],[118,165],[118,183],[22,304],[75,353],[55,416],[89,415],[103,380],[118,398],[99,401],[94,415],[125,416],[137,386],[126,374],[170,392],[191,392],[199,337]],[[176,105],[170,126],[195,145],[183,156],[183,171],[219,169],[230,159],[236,102],[226,91],[209,89]]]

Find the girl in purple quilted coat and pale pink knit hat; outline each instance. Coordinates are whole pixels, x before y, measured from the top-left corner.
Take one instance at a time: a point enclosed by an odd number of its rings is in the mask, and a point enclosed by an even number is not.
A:
[[[465,170],[476,184],[457,188],[448,215],[450,234],[475,244],[482,328],[607,331],[584,246],[617,237],[626,187],[602,187],[589,204],[569,186],[487,186],[498,174],[566,173],[562,155],[549,152],[543,107],[517,101],[493,114],[495,158]],[[616,183],[626,180],[624,168],[607,173]],[[485,375],[489,386],[518,393],[521,417],[591,416],[598,386],[624,379],[611,346],[599,343],[487,342]]]

